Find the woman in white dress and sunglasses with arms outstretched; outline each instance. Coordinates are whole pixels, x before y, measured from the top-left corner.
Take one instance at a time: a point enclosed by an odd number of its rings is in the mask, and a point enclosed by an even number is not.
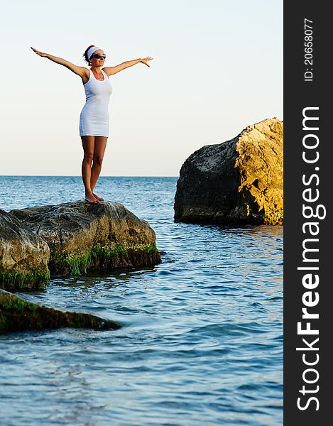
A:
[[[96,204],[104,201],[94,193],[94,187],[99,173],[102,169],[102,161],[105,148],[107,147],[107,138],[109,137],[109,99],[112,92],[109,76],[116,72],[125,70],[125,68],[142,62],[148,65],[152,60],[151,56],[122,62],[115,67],[104,67],[106,55],[102,48],[90,45],[83,54],[84,60],[90,68],[79,67],[62,58],[50,55],[49,53],[39,52],[35,48],[31,49],[37,55],[48,58],[57,64],[64,65],[69,70],[82,78],[86,94],[86,103],[80,114],[80,136],[84,156],[82,160],[82,180],[85,190],[85,201]]]

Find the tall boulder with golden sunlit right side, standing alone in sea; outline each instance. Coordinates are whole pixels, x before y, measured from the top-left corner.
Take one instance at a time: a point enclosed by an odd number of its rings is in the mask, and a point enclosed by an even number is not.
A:
[[[282,224],[283,121],[263,120],[190,155],[174,209],[179,222]]]

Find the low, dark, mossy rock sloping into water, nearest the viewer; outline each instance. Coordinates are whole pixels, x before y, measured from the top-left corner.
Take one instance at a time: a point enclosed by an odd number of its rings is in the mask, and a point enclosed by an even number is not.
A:
[[[0,333],[62,327],[119,329],[121,324],[102,320],[102,318],[90,314],[62,312],[36,305],[36,303],[26,302],[21,297],[0,290]]]

